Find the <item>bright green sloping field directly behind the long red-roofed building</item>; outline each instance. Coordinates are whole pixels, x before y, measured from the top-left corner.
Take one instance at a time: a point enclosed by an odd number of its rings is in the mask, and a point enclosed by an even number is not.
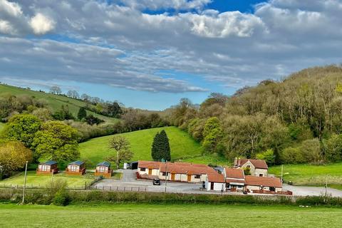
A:
[[[224,159],[214,156],[202,156],[202,147],[184,131],[175,128],[152,128],[139,130],[132,133],[123,133],[130,141],[131,149],[134,152],[133,160],[152,160],[151,145],[155,134],[165,130],[170,140],[172,160],[182,160],[199,163],[222,163]],[[113,136],[95,138],[80,144],[81,158],[90,160],[92,165],[105,160],[113,150],[108,148],[108,142]]]

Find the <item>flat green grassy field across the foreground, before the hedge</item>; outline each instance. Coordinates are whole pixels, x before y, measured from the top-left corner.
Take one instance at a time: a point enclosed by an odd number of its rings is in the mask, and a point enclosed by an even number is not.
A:
[[[340,208],[286,206],[0,204],[0,227],[341,227]]]

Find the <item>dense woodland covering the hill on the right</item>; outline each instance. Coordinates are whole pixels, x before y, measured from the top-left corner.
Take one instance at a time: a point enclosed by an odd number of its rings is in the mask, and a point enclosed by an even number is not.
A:
[[[279,82],[261,81],[231,97],[212,93],[199,108],[182,99],[166,113],[170,123],[187,130],[207,153],[229,160],[342,160],[341,66],[305,69]]]

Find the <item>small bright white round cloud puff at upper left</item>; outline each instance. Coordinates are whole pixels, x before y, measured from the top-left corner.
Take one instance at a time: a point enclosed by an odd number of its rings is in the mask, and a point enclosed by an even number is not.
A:
[[[37,35],[43,35],[53,30],[53,28],[55,28],[55,24],[55,21],[40,13],[33,16],[30,21],[33,33]]]

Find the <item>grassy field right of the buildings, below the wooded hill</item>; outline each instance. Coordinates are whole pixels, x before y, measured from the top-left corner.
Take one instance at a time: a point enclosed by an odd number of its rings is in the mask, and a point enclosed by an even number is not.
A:
[[[281,175],[281,166],[269,168],[269,173]],[[328,165],[284,165],[284,180],[295,185],[324,185],[328,178],[331,187],[342,187],[342,163]]]

